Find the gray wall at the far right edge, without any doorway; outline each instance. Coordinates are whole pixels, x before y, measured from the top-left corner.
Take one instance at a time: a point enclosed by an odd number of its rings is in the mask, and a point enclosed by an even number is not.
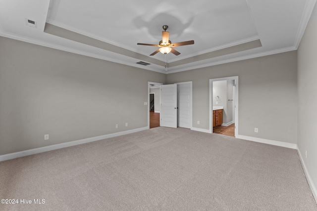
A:
[[[315,184],[315,190],[317,189],[316,79],[317,17],[309,21],[298,48],[298,148]],[[305,150],[307,150],[307,158],[305,158]]]

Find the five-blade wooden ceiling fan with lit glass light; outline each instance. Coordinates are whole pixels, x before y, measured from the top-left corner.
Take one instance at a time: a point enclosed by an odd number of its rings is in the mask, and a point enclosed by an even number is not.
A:
[[[146,44],[146,43],[138,43],[140,45],[150,45],[150,46],[157,46],[159,47],[158,50],[154,51],[152,54],[150,54],[150,56],[153,56],[155,54],[157,54],[158,52],[161,52],[163,54],[167,54],[169,52],[172,52],[173,54],[175,54],[176,56],[178,56],[180,54],[180,52],[178,52],[177,50],[175,50],[172,47],[177,47],[177,46],[182,46],[182,45],[188,45],[188,44],[194,44],[194,41],[185,41],[185,42],[175,42],[172,43],[170,40],[168,40],[169,37],[169,32],[166,32],[168,26],[164,25],[163,26],[163,30],[162,31],[162,40],[159,41],[159,44]]]

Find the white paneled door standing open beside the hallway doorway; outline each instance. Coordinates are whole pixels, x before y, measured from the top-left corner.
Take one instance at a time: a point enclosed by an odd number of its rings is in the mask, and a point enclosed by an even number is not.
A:
[[[159,126],[177,127],[177,84],[160,85]]]

